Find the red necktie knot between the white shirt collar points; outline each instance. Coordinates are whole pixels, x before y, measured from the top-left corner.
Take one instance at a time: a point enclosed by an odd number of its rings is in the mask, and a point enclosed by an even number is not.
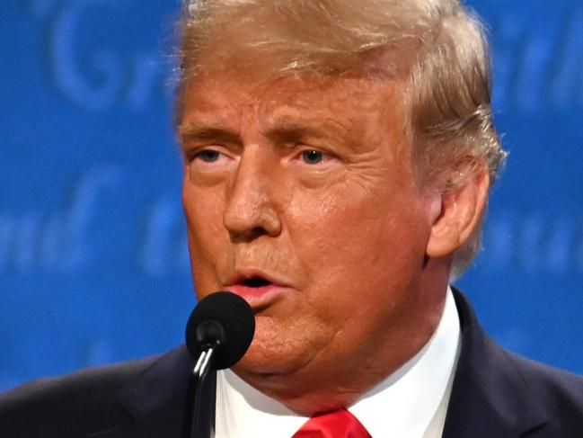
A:
[[[312,416],[292,438],[372,438],[346,409]]]

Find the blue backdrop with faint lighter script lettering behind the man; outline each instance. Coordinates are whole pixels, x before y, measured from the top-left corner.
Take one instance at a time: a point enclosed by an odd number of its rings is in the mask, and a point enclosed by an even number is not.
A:
[[[502,344],[583,372],[583,2],[475,0],[511,155],[459,285]],[[163,352],[195,303],[172,133],[178,0],[0,8],[0,389]]]

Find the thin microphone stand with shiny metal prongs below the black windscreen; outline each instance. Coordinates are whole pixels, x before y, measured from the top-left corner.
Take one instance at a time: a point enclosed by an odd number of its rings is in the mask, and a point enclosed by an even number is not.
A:
[[[207,400],[202,396],[206,392],[204,389],[208,382],[208,371],[211,369],[215,345],[205,345],[199,355],[199,360],[190,375],[190,397],[194,397],[194,407],[192,409],[192,419],[190,422],[190,432],[186,435],[189,438],[210,438],[211,425],[214,423],[215,394]],[[208,391],[207,391],[208,392]],[[204,403],[204,402],[207,403]],[[212,406],[209,406],[212,404]]]

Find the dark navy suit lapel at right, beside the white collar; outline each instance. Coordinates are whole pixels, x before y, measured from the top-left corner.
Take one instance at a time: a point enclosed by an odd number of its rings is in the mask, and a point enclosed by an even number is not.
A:
[[[443,437],[517,438],[543,427],[543,408],[515,362],[481,330],[472,308],[458,291],[455,304],[462,351]]]

